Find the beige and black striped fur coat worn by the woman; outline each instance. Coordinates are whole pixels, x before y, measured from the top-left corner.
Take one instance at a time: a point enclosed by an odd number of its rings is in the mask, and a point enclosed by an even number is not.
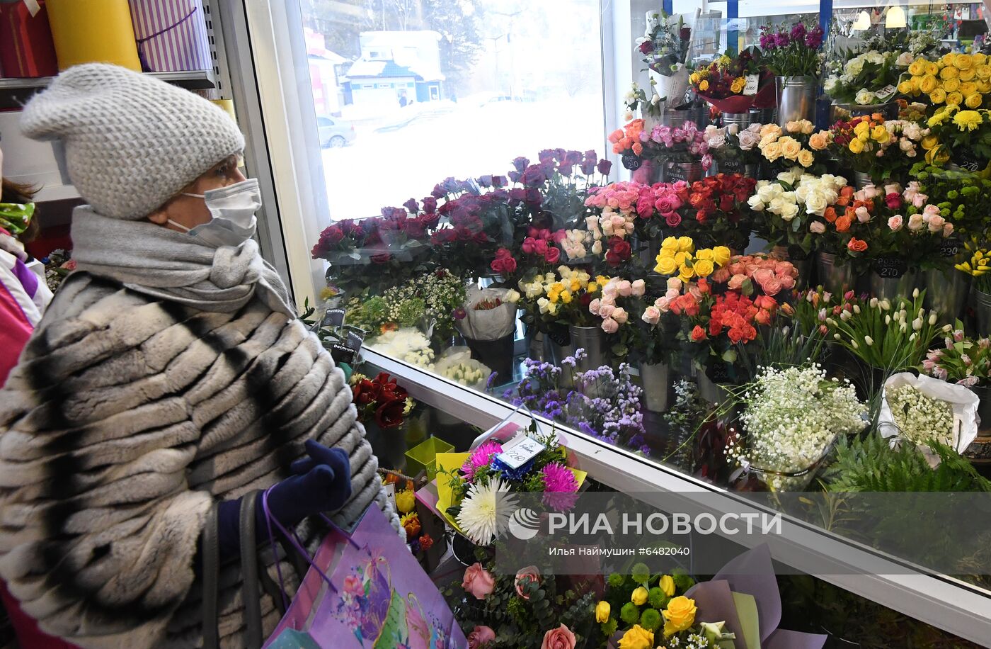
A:
[[[0,391],[0,577],[79,646],[198,646],[211,504],[288,475],[307,438],[351,456],[332,518],[376,502],[399,531],[344,374],[300,321],[257,298],[211,313],[73,274]],[[222,644],[244,646],[237,567],[220,582]]]

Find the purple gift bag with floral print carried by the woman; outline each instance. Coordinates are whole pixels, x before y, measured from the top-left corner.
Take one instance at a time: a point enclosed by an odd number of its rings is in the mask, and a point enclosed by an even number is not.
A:
[[[265,647],[467,645],[443,595],[373,504],[350,537],[336,528],[327,535]]]

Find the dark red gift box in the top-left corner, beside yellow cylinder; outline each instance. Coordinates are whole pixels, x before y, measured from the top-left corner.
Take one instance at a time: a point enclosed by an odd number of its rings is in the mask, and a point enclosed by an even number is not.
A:
[[[45,0],[0,3],[0,77],[55,76],[55,44]]]

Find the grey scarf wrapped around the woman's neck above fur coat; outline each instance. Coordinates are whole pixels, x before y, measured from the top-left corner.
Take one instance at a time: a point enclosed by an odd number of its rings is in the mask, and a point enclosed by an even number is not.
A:
[[[72,245],[76,268],[145,295],[231,313],[257,294],[273,311],[296,317],[285,285],[253,239],[214,248],[150,221],[108,218],[81,205],[72,211]]]

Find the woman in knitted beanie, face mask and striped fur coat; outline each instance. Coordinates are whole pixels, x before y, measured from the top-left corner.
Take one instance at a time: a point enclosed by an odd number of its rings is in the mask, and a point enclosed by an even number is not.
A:
[[[78,270],[0,391],[0,578],[22,608],[81,647],[201,646],[201,534],[216,515],[236,555],[246,494],[272,486],[273,514],[310,543],[307,517],[347,524],[372,504],[398,531],[343,372],[251,238],[261,202],[233,121],[79,65],[22,128],[61,142],[87,202]],[[237,564],[219,578],[222,646],[248,645]],[[261,606],[268,634],[279,611]]]

